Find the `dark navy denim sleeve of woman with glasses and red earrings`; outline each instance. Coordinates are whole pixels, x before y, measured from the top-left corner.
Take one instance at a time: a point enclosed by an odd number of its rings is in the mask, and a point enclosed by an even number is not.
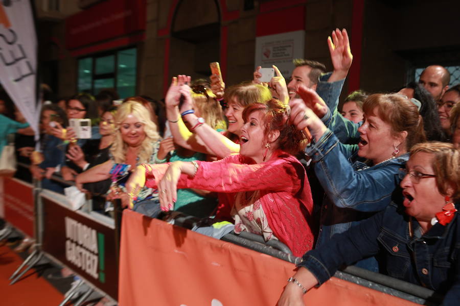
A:
[[[336,234],[332,239],[303,256],[298,267],[305,267],[315,275],[318,286],[334,276],[342,265],[351,265],[379,251],[377,237],[385,211],[353,226],[347,232]]]

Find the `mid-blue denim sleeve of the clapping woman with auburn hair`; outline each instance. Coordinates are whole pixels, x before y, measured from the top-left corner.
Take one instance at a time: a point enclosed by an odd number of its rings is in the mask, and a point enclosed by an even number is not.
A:
[[[388,205],[393,190],[399,184],[397,173],[403,162],[394,159],[355,171],[349,158],[356,150],[356,145],[340,143],[327,130],[305,152],[315,162],[316,176],[335,206],[363,212],[381,211]]]

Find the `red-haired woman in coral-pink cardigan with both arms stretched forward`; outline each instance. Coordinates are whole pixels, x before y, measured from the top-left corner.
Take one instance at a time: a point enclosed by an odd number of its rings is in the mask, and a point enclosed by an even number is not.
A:
[[[280,240],[301,256],[313,244],[313,202],[304,167],[291,155],[305,137],[289,123],[289,113],[289,106],[277,99],[248,105],[240,154],[216,162],[143,164],[128,182],[131,196],[144,185],[158,188],[162,210],[168,211],[177,188],[218,192],[217,218],[232,218],[236,234],[247,231],[265,241]]]

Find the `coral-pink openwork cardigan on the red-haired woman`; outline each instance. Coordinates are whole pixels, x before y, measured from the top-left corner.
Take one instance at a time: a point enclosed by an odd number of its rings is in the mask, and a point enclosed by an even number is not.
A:
[[[278,151],[261,164],[240,155],[197,163],[195,176],[182,174],[177,188],[219,192],[219,218],[231,216],[238,193],[258,191],[255,203],[260,201],[268,227],[278,240],[297,257],[312,249],[309,222],[313,201],[305,169],[295,157]],[[152,165],[153,177],[147,177],[146,186],[156,187],[167,166]]]

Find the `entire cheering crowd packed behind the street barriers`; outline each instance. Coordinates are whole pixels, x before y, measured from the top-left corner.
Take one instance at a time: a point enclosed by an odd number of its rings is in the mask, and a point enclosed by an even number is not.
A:
[[[113,91],[80,93],[44,105],[40,150],[20,149],[43,188],[75,181],[108,214],[110,201],[149,217],[177,211],[212,217],[196,231],[243,231],[279,240],[303,261],[279,305],[342,265],[357,265],[460,301],[460,84],[426,67],[394,92],[339,96],[353,56],[346,30],[328,38],[333,71],[295,60],[286,83],[277,67],[268,83],[225,87],[172,79],[162,101]],[[0,104],[0,110],[2,110]],[[28,133],[0,115],[0,127]],[[90,119],[79,138],[72,119]],[[15,122],[15,123],[12,123]],[[5,141],[0,139],[0,145]],[[225,230],[221,221],[226,221]]]

